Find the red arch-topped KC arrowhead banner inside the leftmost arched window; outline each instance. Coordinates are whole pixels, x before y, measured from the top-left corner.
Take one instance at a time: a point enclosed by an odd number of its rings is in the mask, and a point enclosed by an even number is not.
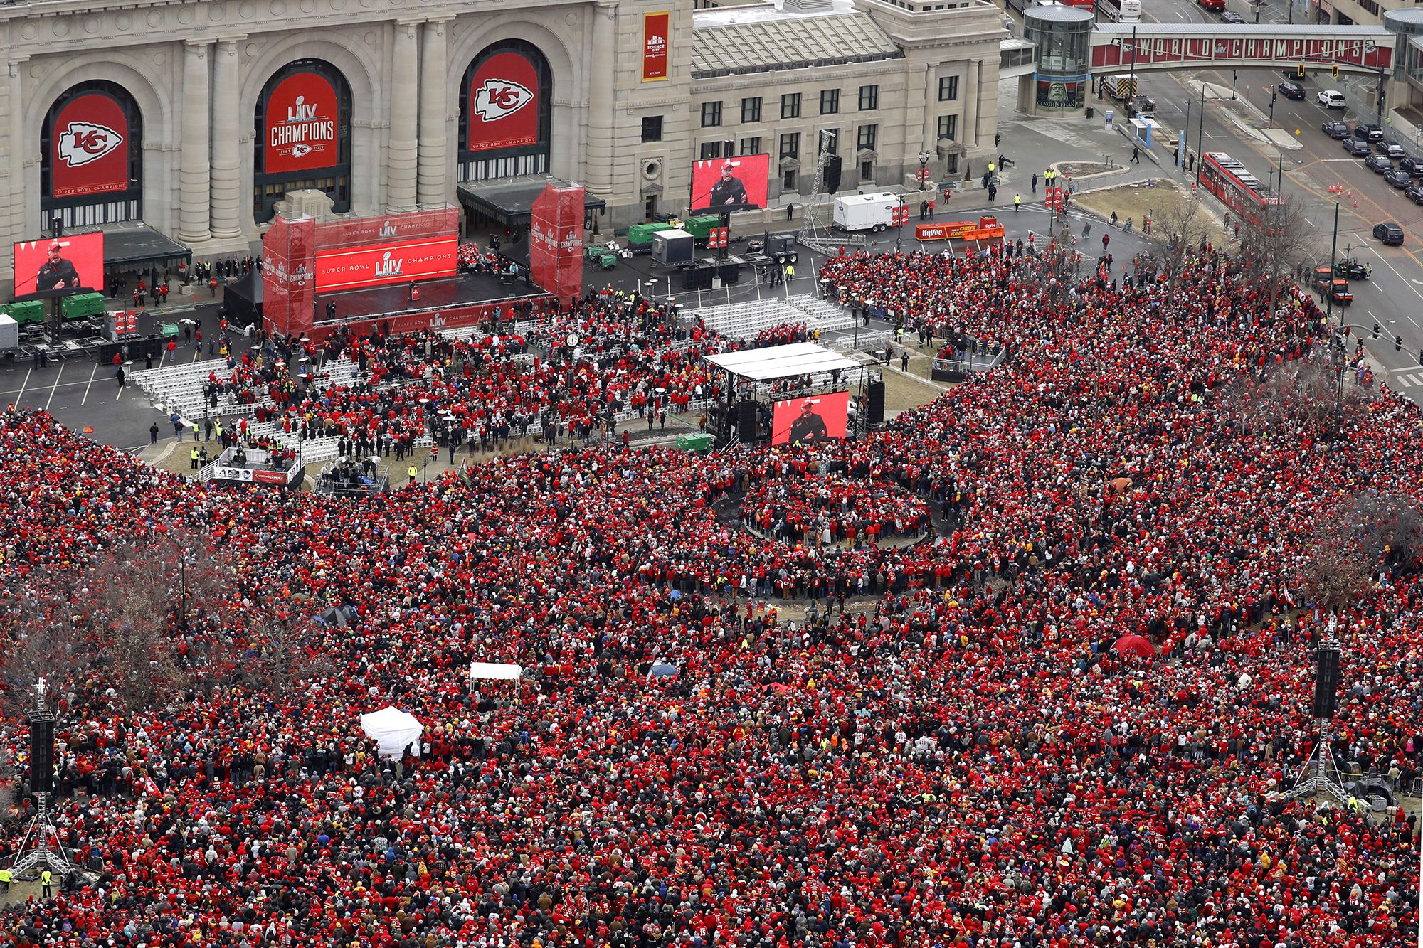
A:
[[[74,97],[50,134],[50,196],[128,191],[128,118],[102,93]]]

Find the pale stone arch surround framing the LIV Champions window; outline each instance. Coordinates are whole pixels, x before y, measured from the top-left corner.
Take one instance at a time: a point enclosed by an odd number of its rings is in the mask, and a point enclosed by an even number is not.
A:
[[[380,75],[380,60],[376,50],[361,46],[357,36],[340,30],[323,33],[313,40],[305,34],[290,34],[272,43],[243,43],[242,91],[238,100],[240,139],[238,155],[240,179],[252,186],[256,178],[255,161],[255,117],[258,100],[268,81],[295,60],[320,60],[340,73],[350,90],[350,192],[351,212],[370,215],[380,201],[380,142],[387,125],[387,95]],[[252,206],[250,191],[245,192],[243,206]],[[250,215],[243,215],[245,226],[260,229]]]

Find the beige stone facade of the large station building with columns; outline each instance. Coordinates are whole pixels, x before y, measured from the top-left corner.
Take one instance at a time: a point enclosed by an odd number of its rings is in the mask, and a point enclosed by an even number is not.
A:
[[[85,83],[111,83],[141,114],[142,196],[137,216],[192,248],[196,256],[246,252],[263,223],[253,209],[258,162],[255,115],[269,80],[297,60],[333,67],[350,93],[350,214],[427,208],[454,202],[460,181],[461,84],[482,50],[501,41],[532,44],[552,77],[548,172],[608,201],[603,228],[640,221],[646,198],[659,209],[686,202],[690,164],[707,135],[700,104],[713,95],[739,108],[748,88],[778,102],[781,87],[805,94],[808,111],[827,84],[841,88],[848,114],[838,127],[854,144],[855,94],[877,84],[878,141],[874,178],[902,184],[915,155],[935,144],[941,107],[962,117],[970,149],[996,122],[1000,17],[992,4],[859,0],[902,47],[898,58],[847,65],[697,80],[696,30],[687,0],[494,0],[471,11],[443,0],[199,0],[110,3],[50,0],[0,6],[9,61],[0,84],[0,188],[11,241],[44,231],[41,134],[55,101]],[[670,13],[667,78],[643,81],[643,14]],[[936,77],[962,75],[956,102],[935,101]],[[928,87],[926,87],[928,84]],[[642,141],[649,115],[662,120],[660,141]],[[739,117],[739,115],[737,115]],[[804,131],[825,127],[808,115]],[[774,151],[783,124],[767,112],[753,132]],[[721,130],[731,131],[731,130]],[[807,145],[803,145],[805,148]],[[814,145],[801,161],[814,162]],[[852,148],[841,149],[847,154]],[[773,188],[780,169],[773,155]],[[941,162],[942,154],[936,155]],[[845,162],[842,186],[858,164]],[[912,174],[912,171],[911,171]],[[804,185],[808,189],[808,178]],[[75,228],[80,223],[74,223]],[[9,283],[9,255],[0,255]]]

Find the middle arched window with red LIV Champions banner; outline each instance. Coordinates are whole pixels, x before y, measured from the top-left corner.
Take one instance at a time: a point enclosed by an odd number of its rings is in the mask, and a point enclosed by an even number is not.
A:
[[[253,117],[252,216],[272,219],[287,191],[316,189],[351,208],[351,90],[323,60],[296,60],[262,87]]]

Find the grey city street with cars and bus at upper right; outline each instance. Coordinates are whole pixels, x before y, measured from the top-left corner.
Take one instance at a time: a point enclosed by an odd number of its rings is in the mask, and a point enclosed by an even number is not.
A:
[[[1301,20],[1299,10],[1301,4],[1296,3],[1296,23]],[[1161,23],[1220,23],[1217,14],[1188,0],[1167,0],[1146,16]],[[1284,23],[1285,19],[1286,6],[1282,0],[1262,9],[1262,23]],[[1222,31],[1232,28],[1224,23],[1220,27]],[[1146,73],[1138,80],[1141,93],[1157,101],[1157,121],[1171,130],[1171,137],[1185,131],[1192,151],[1197,142],[1202,151],[1225,151],[1261,181],[1275,186],[1284,178],[1281,194],[1302,202],[1306,221],[1321,236],[1321,265],[1329,262],[1338,206],[1338,256],[1342,259],[1350,255],[1373,265],[1370,280],[1350,285],[1355,299],[1345,312],[1345,322],[1366,327],[1377,322],[1383,332],[1377,342],[1368,340],[1369,353],[1387,370],[1390,386],[1414,400],[1423,400],[1423,208],[1402,191],[1389,186],[1382,175],[1369,171],[1362,158],[1346,155],[1340,142],[1319,128],[1325,121],[1345,121],[1349,125],[1377,121],[1372,93],[1376,80],[1349,74],[1335,80],[1325,71],[1309,73],[1303,80],[1294,78],[1305,87],[1305,98],[1278,95],[1274,121],[1271,91],[1285,80],[1275,70],[1239,70],[1234,75],[1229,70]],[[1202,81],[1210,85],[1205,90],[1204,127],[1200,120]],[[1241,101],[1218,101],[1215,95],[1220,90],[1229,90],[1232,84]],[[1340,111],[1318,105],[1315,93],[1322,88],[1345,93],[1349,107]],[[1272,125],[1291,134],[1299,148],[1281,148],[1269,141],[1265,130]],[[1410,155],[1423,157],[1419,142],[1399,144]],[[1158,149],[1158,157],[1170,162],[1170,151]],[[1175,174],[1183,181],[1195,178],[1194,174]],[[1331,188],[1335,191],[1331,192]],[[1214,198],[1205,199],[1224,209]],[[1379,222],[1400,225],[1405,231],[1403,246],[1386,248],[1376,241],[1372,231]],[[1403,337],[1402,350],[1397,352],[1395,335]]]

